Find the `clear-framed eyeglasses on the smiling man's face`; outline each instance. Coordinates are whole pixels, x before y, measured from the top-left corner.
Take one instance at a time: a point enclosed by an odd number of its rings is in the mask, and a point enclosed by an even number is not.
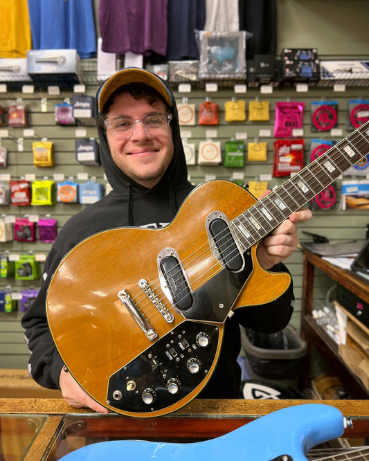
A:
[[[156,136],[167,131],[170,120],[172,120],[172,114],[146,114],[137,120],[128,116],[111,117],[105,119],[104,123],[111,130],[114,138],[126,139],[134,134],[137,122],[142,123],[147,134]]]

